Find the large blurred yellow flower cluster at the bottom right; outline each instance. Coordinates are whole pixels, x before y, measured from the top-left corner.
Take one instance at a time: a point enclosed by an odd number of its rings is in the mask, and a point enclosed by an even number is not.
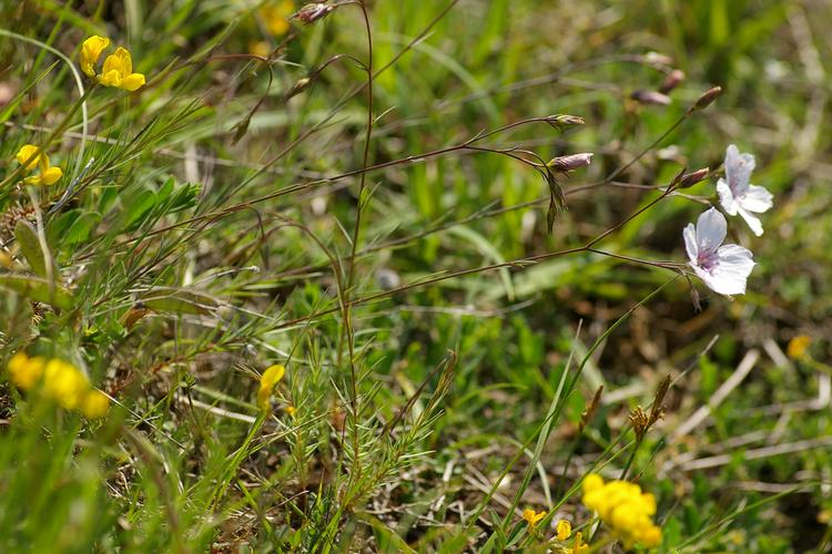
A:
[[[652,522],[656,496],[641,492],[639,485],[627,481],[605,483],[600,475],[590,474],[584,481],[582,501],[612,529],[625,548],[636,543],[647,547],[661,543],[661,530]]]

